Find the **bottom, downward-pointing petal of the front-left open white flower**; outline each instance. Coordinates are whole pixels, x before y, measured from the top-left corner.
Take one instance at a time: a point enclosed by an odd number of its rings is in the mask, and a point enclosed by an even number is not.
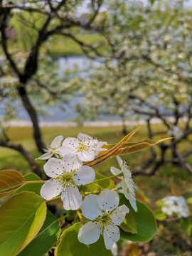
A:
[[[65,210],[77,210],[82,204],[82,196],[76,186],[67,186],[65,191],[62,191],[61,200]]]

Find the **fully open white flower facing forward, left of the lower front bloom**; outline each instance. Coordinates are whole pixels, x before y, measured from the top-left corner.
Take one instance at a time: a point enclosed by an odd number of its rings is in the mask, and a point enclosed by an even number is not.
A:
[[[50,200],[61,193],[66,210],[80,208],[82,196],[77,186],[94,181],[95,171],[90,166],[82,166],[82,162],[74,154],[68,154],[62,160],[49,159],[44,165],[44,171],[51,179],[41,187],[41,196]]]

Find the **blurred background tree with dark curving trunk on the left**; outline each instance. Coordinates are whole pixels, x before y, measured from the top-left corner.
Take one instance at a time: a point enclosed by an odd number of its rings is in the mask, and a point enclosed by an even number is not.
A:
[[[77,42],[75,36],[80,33],[80,29],[95,31],[94,22],[102,1],[92,1],[91,9],[87,9],[87,15],[85,14],[85,20],[78,15],[80,4],[81,1],[65,0],[59,2],[54,0],[22,1],[22,3],[0,1],[1,50],[7,60],[6,65],[1,66],[0,69],[1,102],[5,102],[9,117],[16,114],[15,107],[23,105],[33,124],[33,137],[41,152],[45,146],[38,125],[36,102],[39,102],[42,95],[42,102],[50,105],[55,99],[65,101],[66,97],[63,99],[61,97],[68,91],[58,79],[55,79],[57,73],[51,63],[52,60],[48,58],[46,43],[54,35],[70,38]],[[18,38],[14,40],[10,36],[11,28],[15,28],[18,34]],[[14,41],[17,43],[14,44]],[[18,47],[18,43],[22,47]],[[82,47],[79,41],[78,44]],[[88,47],[88,49],[90,48],[92,46]],[[46,70],[43,69],[45,67]],[[52,72],[45,79],[49,69]],[[34,97],[31,95],[35,95],[36,100],[33,100]],[[41,100],[39,105],[41,105]],[[6,117],[8,116],[6,115]],[[11,144],[8,137],[1,140],[0,145],[20,151],[30,162],[33,171],[41,175],[37,164],[21,145]]]

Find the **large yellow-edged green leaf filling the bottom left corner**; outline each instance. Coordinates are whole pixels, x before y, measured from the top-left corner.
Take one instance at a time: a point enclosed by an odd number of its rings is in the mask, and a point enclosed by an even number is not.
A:
[[[33,192],[12,196],[0,208],[0,255],[15,256],[38,234],[46,202]]]

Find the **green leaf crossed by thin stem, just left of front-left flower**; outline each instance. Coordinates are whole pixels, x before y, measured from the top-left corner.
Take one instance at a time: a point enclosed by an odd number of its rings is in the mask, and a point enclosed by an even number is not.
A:
[[[27,174],[24,176],[26,181],[42,181],[39,176],[36,174]],[[31,191],[36,193],[38,196],[40,195],[41,186],[45,183],[45,181],[42,181],[42,183],[28,183],[24,184],[21,188],[18,188],[18,190],[15,192],[15,194],[20,193],[21,191]]]

